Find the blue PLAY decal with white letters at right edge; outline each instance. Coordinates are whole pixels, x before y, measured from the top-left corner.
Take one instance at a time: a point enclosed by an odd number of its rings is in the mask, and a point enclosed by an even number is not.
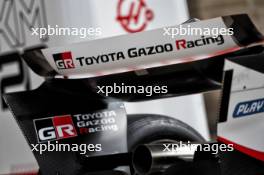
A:
[[[233,117],[243,117],[264,112],[264,98],[238,103]]]

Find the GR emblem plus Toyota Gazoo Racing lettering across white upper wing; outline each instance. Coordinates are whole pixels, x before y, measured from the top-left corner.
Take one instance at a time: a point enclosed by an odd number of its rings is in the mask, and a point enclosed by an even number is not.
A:
[[[54,61],[58,69],[72,69],[76,66],[92,66],[96,64],[104,64],[109,62],[123,61],[125,59],[136,59],[149,55],[158,55],[168,52],[177,52],[181,49],[192,49],[195,47],[205,45],[222,45],[225,42],[224,37],[219,35],[217,37],[204,37],[196,40],[176,40],[174,43],[165,43],[152,45],[147,47],[132,47],[124,51],[117,51],[111,53],[102,53],[96,56],[81,56],[72,59],[72,53],[67,51],[63,53],[53,54]],[[74,65],[75,64],[75,65]]]

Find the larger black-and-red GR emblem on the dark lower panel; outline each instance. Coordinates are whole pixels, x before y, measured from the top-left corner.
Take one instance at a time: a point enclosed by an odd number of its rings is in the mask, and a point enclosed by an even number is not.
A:
[[[39,142],[77,136],[71,115],[36,119],[34,125]]]

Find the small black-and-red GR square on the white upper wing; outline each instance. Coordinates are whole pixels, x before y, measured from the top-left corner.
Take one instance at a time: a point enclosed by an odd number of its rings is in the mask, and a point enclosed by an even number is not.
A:
[[[53,54],[53,58],[58,69],[75,68],[71,52],[56,53]]]

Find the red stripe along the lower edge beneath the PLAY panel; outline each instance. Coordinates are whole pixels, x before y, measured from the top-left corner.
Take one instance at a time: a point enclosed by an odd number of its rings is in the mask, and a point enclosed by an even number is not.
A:
[[[233,144],[234,145],[234,148],[238,151],[241,151],[249,156],[252,156],[256,159],[259,159],[261,161],[264,161],[264,152],[260,152],[260,151],[256,151],[256,150],[253,150],[253,149],[250,149],[250,148],[247,148],[245,146],[242,146],[242,145],[239,145],[239,144],[236,144],[230,140],[227,140],[225,138],[222,138],[222,137],[219,137],[217,138],[218,141],[220,142],[223,142],[223,143],[226,143],[226,144]]]

